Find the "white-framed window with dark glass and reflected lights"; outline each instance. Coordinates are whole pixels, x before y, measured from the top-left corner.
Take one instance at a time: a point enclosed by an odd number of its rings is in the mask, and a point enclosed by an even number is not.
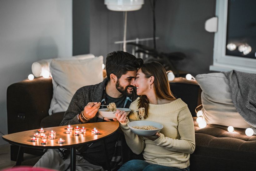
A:
[[[256,1],[217,0],[218,31],[210,71],[256,73]]]

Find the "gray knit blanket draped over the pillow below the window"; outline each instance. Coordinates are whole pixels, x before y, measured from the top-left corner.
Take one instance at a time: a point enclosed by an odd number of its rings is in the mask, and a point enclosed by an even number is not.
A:
[[[229,80],[236,110],[251,125],[256,135],[256,74],[236,70],[223,73]]]

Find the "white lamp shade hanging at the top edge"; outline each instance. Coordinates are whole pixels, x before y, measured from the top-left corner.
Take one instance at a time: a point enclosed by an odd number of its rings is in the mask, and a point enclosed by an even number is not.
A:
[[[136,11],[144,4],[144,0],[105,0],[104,4],[111,11]]]

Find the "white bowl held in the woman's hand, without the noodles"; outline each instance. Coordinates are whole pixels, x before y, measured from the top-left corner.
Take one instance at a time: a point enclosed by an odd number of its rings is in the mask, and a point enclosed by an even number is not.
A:
[[[152,126],[158,129],[155,130],[143,130],[143,129],[136,129],[133,128],[134,126]],[[155,135],[156,132],[160,132],[161,129],[163,129],[163,125],[161,123],[153,122],[153,121],[132,121],[128,123],[128,127],[130,127],[130,130],[134,132],[137,135],[140,136],[152,136]]]

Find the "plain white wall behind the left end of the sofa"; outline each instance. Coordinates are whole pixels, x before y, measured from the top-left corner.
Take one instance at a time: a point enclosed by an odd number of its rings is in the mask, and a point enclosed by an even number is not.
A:
[[[71,54],[72,0],[0,0],[0,131],[3,134],[7,134],[8,85],[26,79],[37,60]],[[0,145],[3,143],[0,138]]]

